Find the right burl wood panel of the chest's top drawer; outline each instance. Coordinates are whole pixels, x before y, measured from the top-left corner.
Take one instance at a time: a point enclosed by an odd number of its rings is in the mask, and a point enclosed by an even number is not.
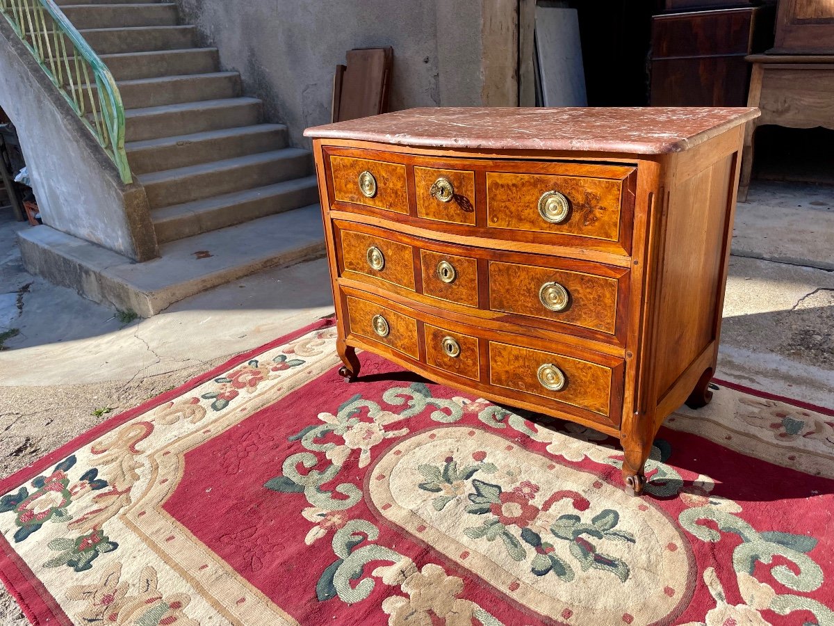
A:
[[[570,214],[561,224],[551,224],[539,213],[545,191],[565,194],[570,202]],[[620,180],[488,172],[486,197],[490,228],[620,239]]]

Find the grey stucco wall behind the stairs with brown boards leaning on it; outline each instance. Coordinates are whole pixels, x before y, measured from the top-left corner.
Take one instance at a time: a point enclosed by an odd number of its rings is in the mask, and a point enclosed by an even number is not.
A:
[[[391,110],[516,103],[508,23],[517,0],[178,3],[183,22],[219,48],[224,68],[241,73],[244,91],[264,99],[269,121],[288,124],[295,145],[309,145],[305,128],[330,121],[335,66],[351,48],[394,48]],[[509,75],[496,80],[496,71]]]

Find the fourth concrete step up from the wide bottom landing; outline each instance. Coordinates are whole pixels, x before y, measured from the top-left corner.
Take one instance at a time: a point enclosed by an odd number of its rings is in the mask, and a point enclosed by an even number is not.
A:
[[[259,123],[262,106],[258,98],[224,98],[130,109],[124,114],[125,141],[251,126]]]

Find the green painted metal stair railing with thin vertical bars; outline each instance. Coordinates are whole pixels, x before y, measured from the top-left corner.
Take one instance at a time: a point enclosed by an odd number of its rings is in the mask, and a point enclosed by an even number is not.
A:
[[[0,0],[0,13],[113,159],[122,180],[133,182],[124,151],[124,105],[107,65],[53,0]]]

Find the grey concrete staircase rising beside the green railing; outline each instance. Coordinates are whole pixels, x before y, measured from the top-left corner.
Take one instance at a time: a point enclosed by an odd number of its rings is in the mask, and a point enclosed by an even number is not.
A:
[[[210,280],[199,275],[200,264],[194,264],[193,275],[174,272],[191,285],[185,289],[160,283],[154,290],[145,281],[143,289],[154,292],[150,304],[133,295],[128,299],[133,310],[153,315],[170,303],[164,301],[168,296],[157,297],[159,292],[180,299],[249,270],[323,253],[320,225],[312,240],[307,223],[318,222],[310,210],[318,202],[312,155],[288,146],[284,125],[264,123],[263,103],[243,96],[239,73],[220,70],[217,48],[198,47],[196,29],[179,23],[176,4],[58,0],[58,5],[118,83],[128,162],[148,196],[160,245],[161,258],[148,263],[159,265],[174,255],[182,264],[188,250],[230,253],[236,243],[263,249],[256,260],[245,261],[250,267],[230,255],[225,273],[215,259]],[[288,236],[294,228],[298,241]],[[77,257],[72,243],[63,242]],[[170,248],[174,244],[176,251]],[[53,236],[51,245],[61,244]],[[125,306],[123,300],[110,303]]]

